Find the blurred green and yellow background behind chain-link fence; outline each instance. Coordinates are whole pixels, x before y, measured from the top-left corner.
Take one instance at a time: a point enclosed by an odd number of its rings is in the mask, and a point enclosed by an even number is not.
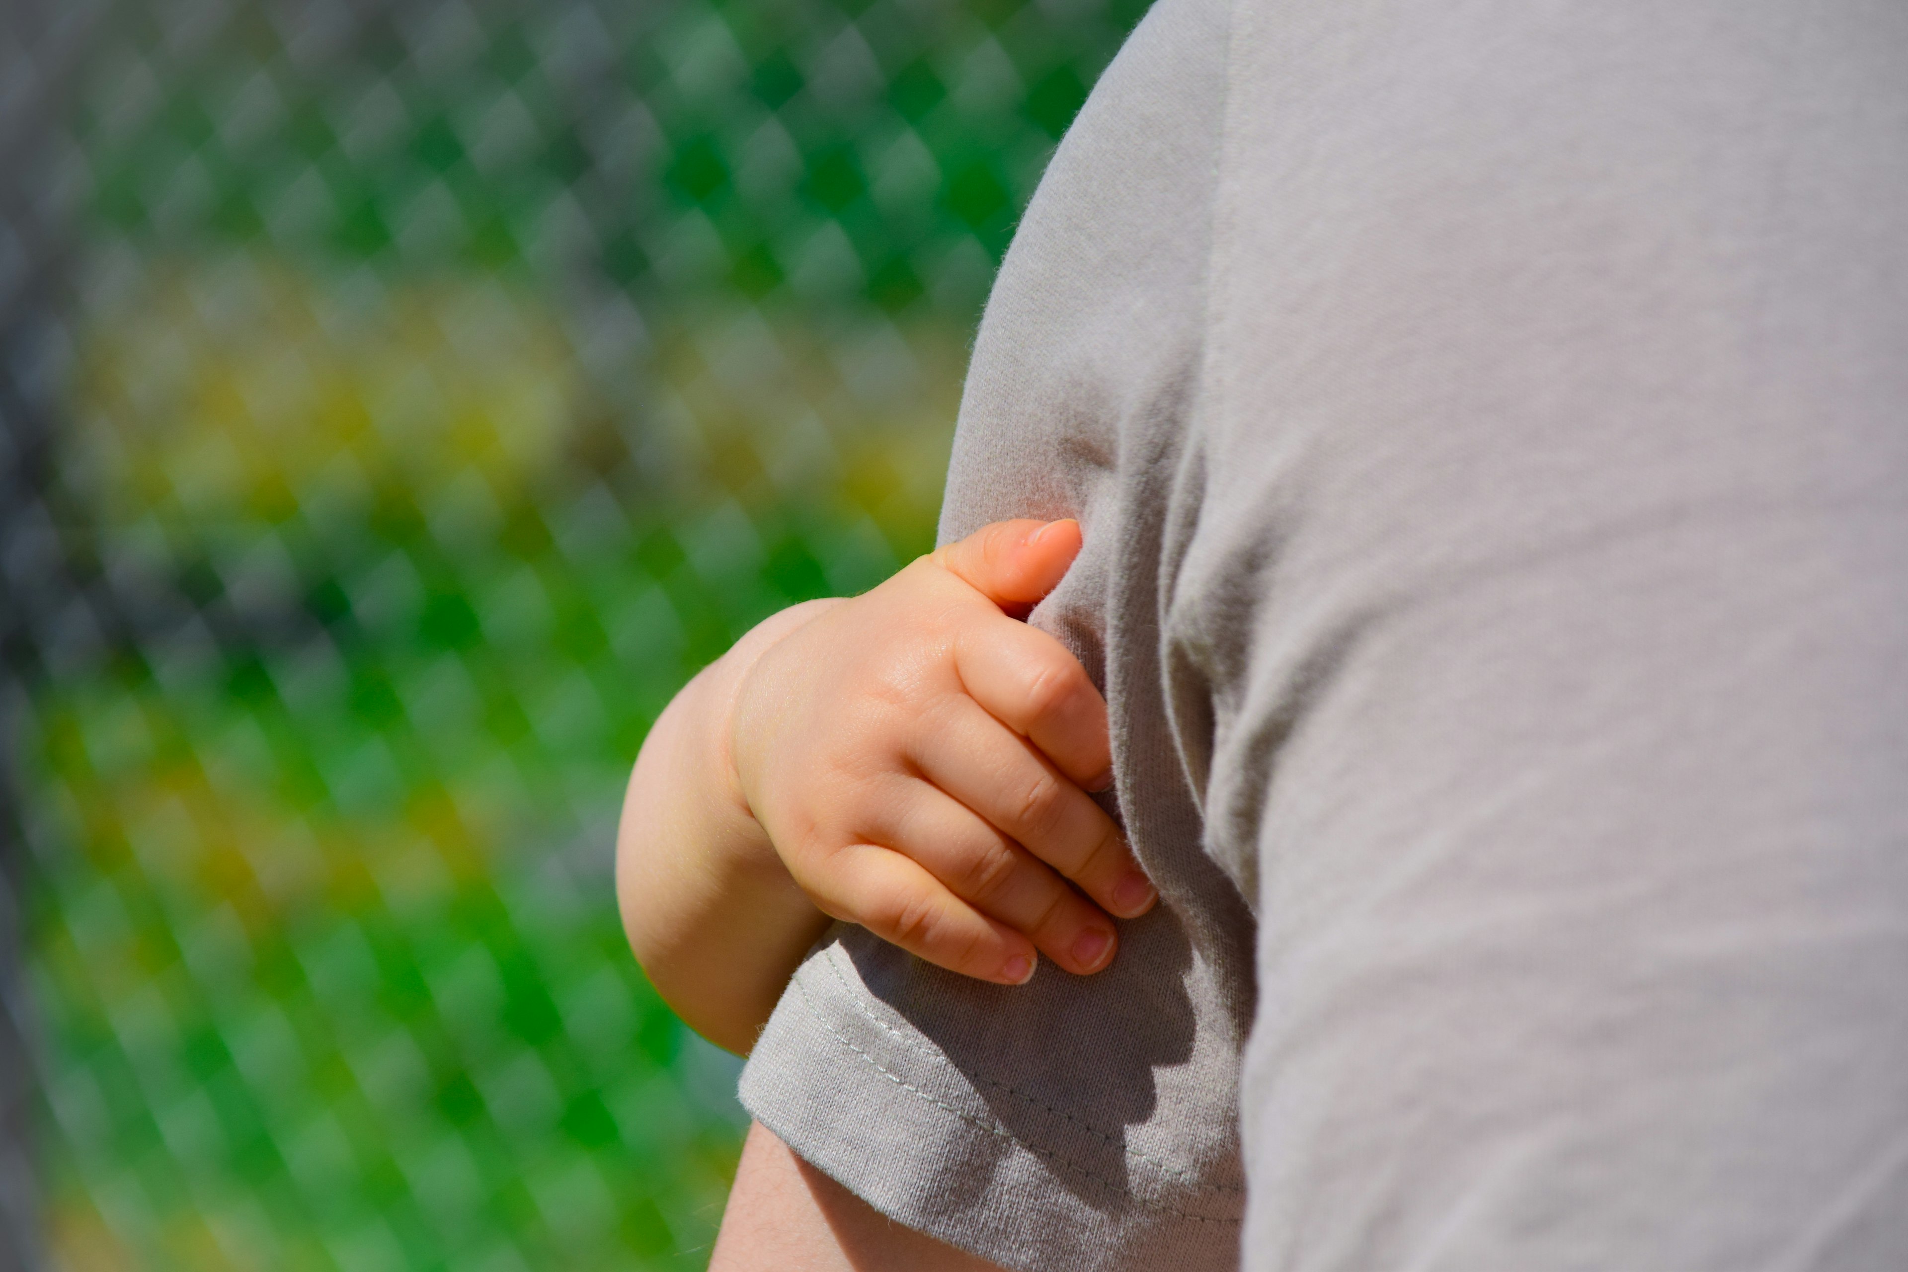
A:
[[[693,1268],[651,719],[931,544],[1143,0],[0,0],[0,1266]]]

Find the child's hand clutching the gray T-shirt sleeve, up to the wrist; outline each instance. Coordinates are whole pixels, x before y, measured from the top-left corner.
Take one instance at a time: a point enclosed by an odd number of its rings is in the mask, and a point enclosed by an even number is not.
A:
[[[822,608],[748,669],[735,776],[824,913],[1019,984],[1036,948],[1099,971],[1116,944],[1107,913],[1152,906],[1082,790],[1110,782],[1107,704],[1059,641],[1006,612],[1051,591],[1078,551],[1072,521],[996,523]]]

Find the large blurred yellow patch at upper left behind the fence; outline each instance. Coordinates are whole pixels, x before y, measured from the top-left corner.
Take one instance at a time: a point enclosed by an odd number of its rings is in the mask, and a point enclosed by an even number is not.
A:
[[[109,519],[280,519],[290,503],[477,473],[534,488],[584,414],[569,336],[496,278],[319,278],[141,263],[80,334],[80,469]]]

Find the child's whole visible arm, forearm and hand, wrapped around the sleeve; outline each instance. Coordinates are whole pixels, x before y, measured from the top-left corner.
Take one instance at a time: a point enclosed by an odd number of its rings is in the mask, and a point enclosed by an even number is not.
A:
[[[1105,702],[1053,637],[1004,612],[1078,553],[1074,523],[1042,530],[1000,523],[862,597],[784,610],[656,721],[624,803],[618,896],[637,957],[696,1032],[746,1053],[830,915],[1013,984],[1036,950],[1099,971],[1107,913],[1152,904],[1082,791],[1107,782]]]

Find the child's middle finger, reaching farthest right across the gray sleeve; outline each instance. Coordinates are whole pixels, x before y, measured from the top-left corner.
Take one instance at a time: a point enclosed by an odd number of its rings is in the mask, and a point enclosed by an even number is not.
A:
[[[925,725],[910,757],[927,782],[1072,879],[1107,913],[1130,919],[1152,908],[1158,894],[1120,828],[1034,746],[960,698]]]

